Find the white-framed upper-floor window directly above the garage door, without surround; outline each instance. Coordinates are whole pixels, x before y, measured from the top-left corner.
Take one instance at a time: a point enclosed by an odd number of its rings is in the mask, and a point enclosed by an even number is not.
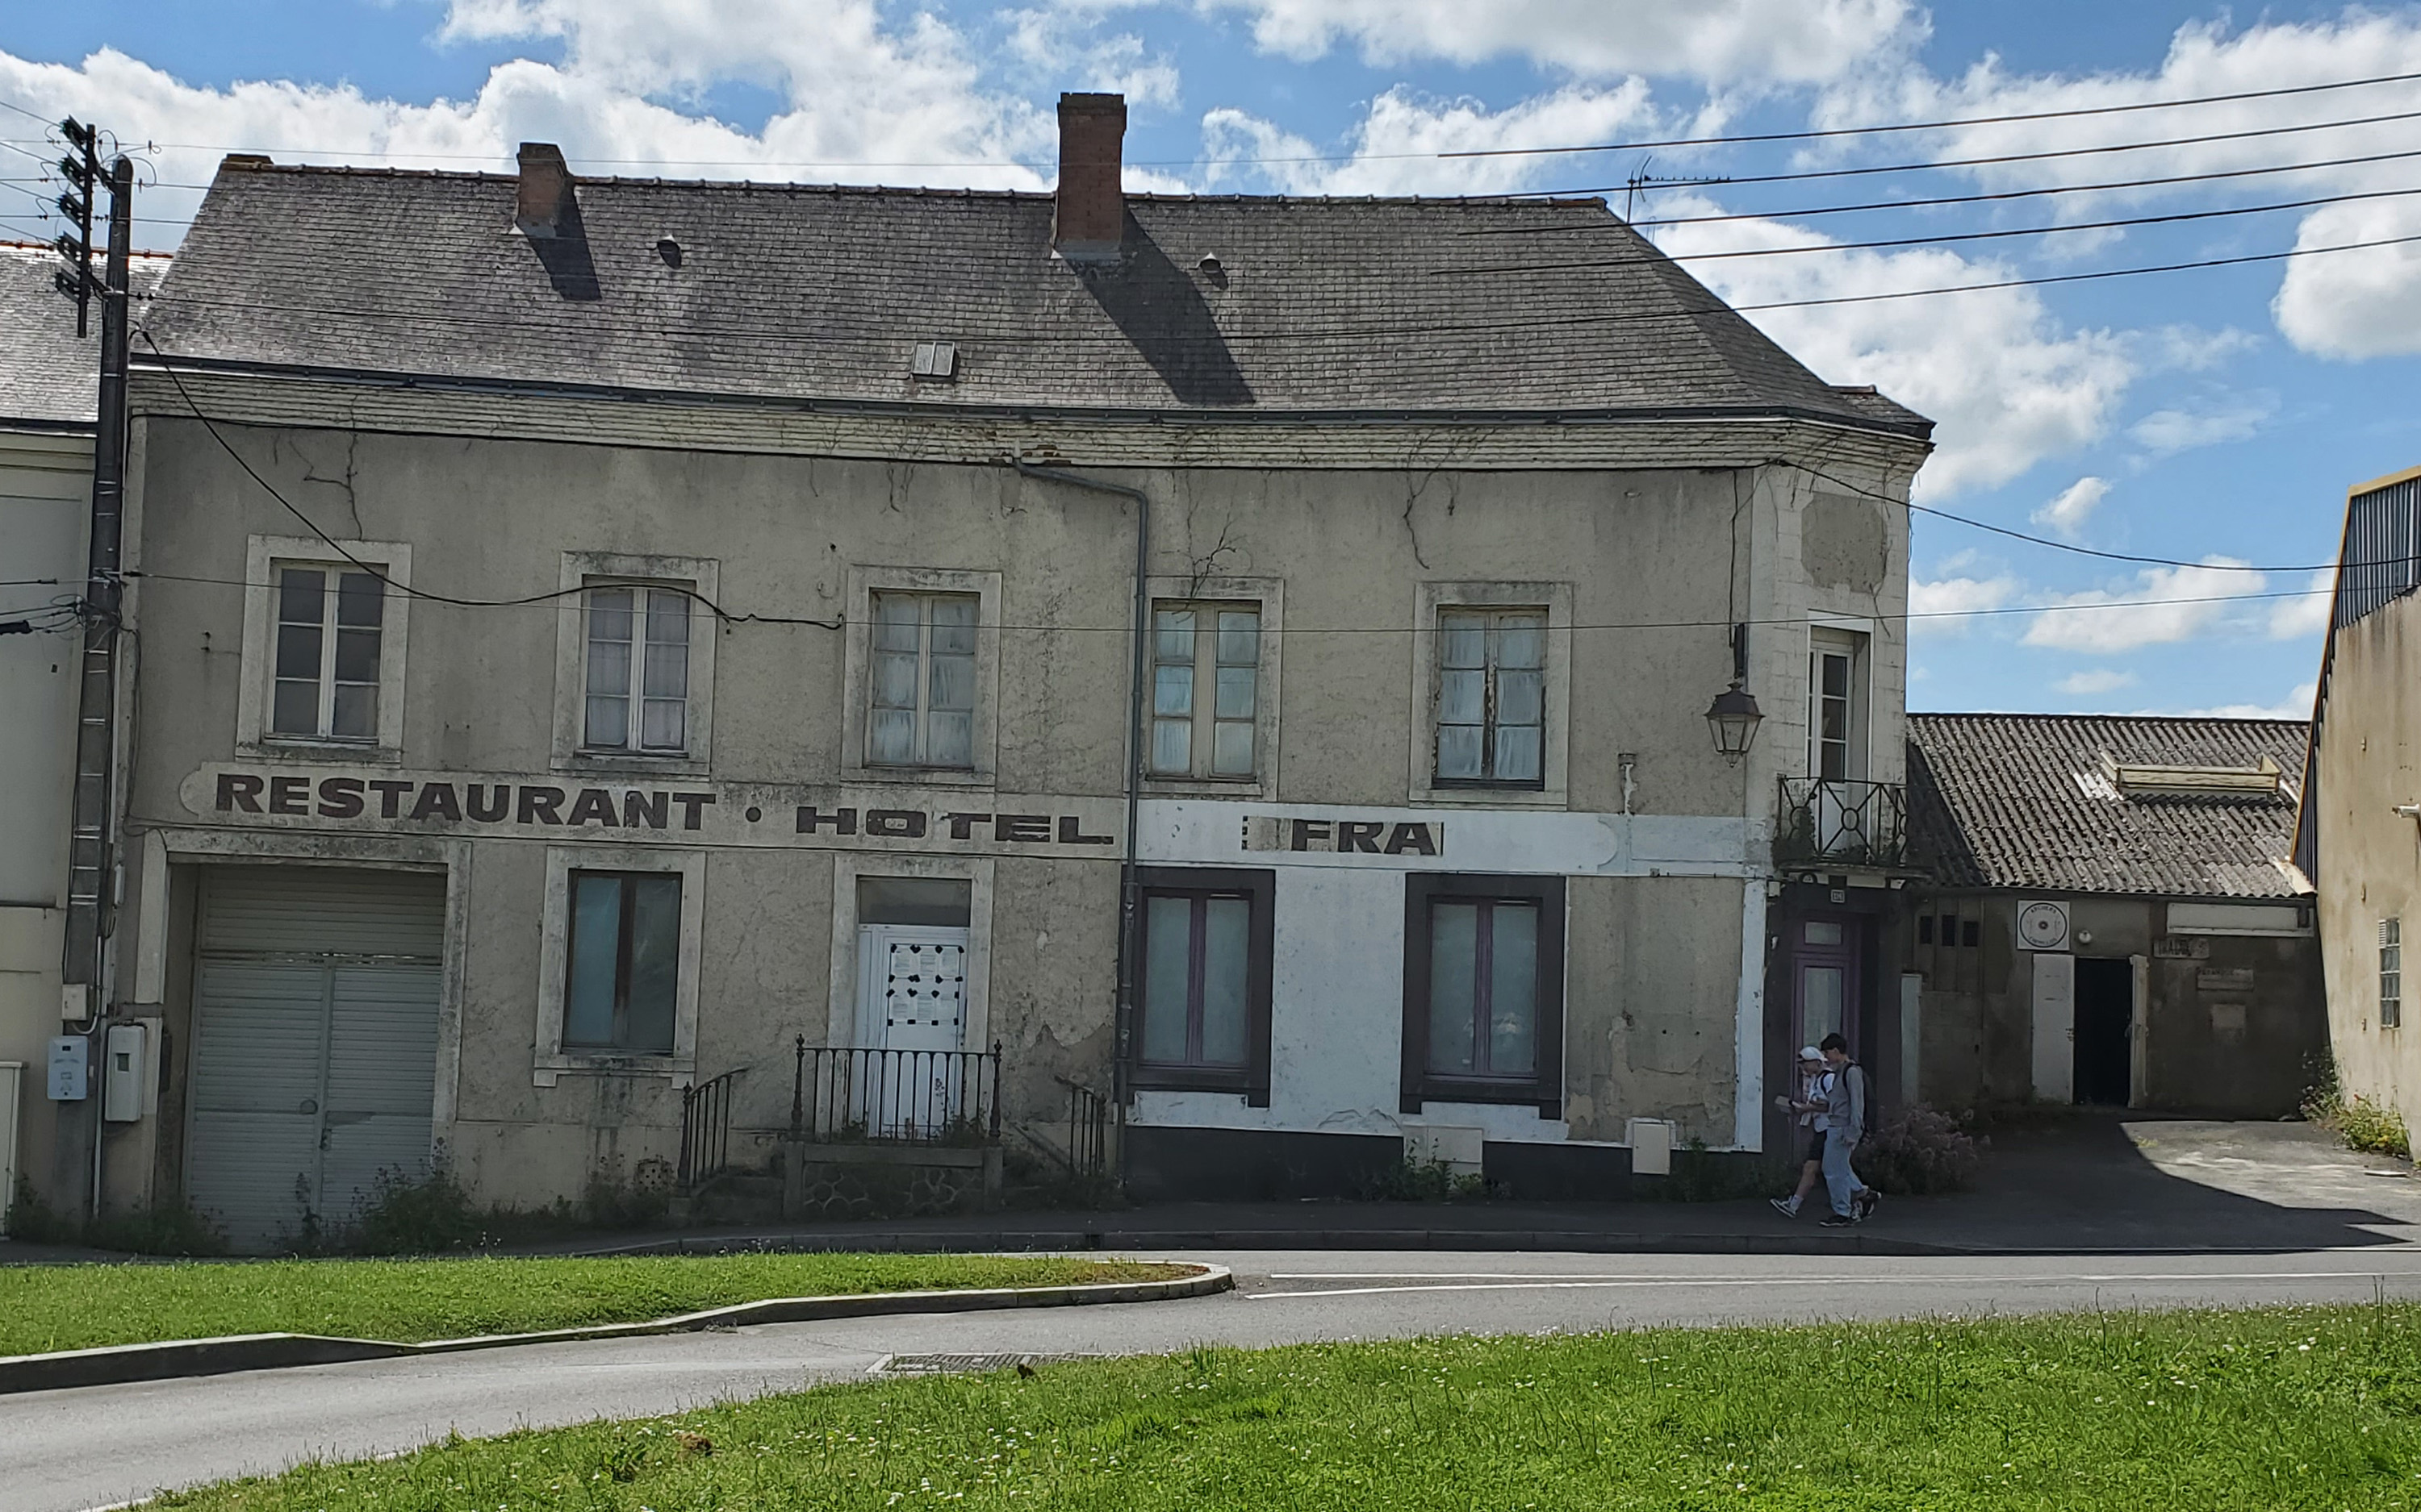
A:
[[[269,738],[378,740],[387,585],[351,564],[278,561]]]

